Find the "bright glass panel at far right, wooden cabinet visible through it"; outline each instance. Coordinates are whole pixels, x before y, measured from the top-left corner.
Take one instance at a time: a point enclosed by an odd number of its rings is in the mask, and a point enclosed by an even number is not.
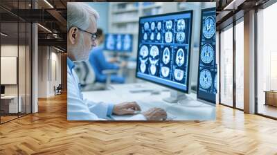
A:
[[[277,118],[277,3],[257,12],[256,111]]]

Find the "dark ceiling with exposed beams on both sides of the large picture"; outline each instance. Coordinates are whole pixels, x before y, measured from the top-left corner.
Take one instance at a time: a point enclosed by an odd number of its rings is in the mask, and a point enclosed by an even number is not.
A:
[[[1,0],[1,30],[10,36],[6,37],[7,42],[25,35],[24,24],[19,24],[19,35],[17,35],[17,24],[12,23],[37,22],[44,26],[44,28],[38,26],[39,45],[50,44],[66,51],[66,3],[72,1],[74,0],[33,0],[32,3],[31,0]],[[217,3],[217,29],[236,13],[258,7],[267,1],[269,0],[210,0]],[[51,33],[45,28],[51,30]]]

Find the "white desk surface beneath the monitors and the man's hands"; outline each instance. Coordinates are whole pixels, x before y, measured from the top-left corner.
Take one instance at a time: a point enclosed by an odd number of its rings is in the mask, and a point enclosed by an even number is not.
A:
[[[112,84],[112,90],[108,91],[86,91],[83,92],[84,98],[93,100],[94,102],[109,102],[118,104],[126,101],[136,101],[142,111],[146,111],[152,107],[160,107],[165,109],[170,120],[214,120],[215,107],[204,104],[196,100],[196,94],[190,93],[190,98],[185,104],[168,103],[163,101],[170,95],[170,91],[166,88],[152,83],[136,83],[136,84]],[[134,89],[155,89],[163,90],[158,95],[152,95],[150,92],[130,93]],[[112,116],[114,120],[126,120],[130,116]]]

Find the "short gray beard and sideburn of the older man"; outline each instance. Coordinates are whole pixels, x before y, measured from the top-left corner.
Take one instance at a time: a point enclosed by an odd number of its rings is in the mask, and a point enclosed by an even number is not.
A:
[[[82,33],[81,33],[82,34]],[[89,58],[89,52],[90,50],[85,50],[84,48],[84,35],[80,34],[80,42],[78,42],[78,45],[75,47],[71,47],[71,55],[74,55],[75,61],[86,61]]]

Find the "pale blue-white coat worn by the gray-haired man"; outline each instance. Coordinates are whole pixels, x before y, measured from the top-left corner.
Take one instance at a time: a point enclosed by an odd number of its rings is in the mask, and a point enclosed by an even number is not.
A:
[[[67,120],[107,120],[109,104],[83,100],[79,79],[74,70],[67,66]],[[127,120],[145,120],[141,114]]]

